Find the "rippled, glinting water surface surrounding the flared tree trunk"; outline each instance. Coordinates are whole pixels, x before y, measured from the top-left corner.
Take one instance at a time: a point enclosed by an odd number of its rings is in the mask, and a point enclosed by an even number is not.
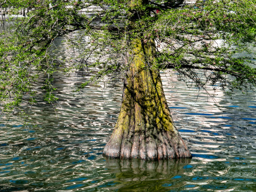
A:
[[[59,49],[65,48],[61,39]],[[62,56],[69,53],[62,51]],[[0,117],[0,191],[255,191],[256,99],[217,91],[214,100],[173,72],[164,91],[192,159],[105,159],[102,151],[120,110],[122,82],[70,91],[79,75],[56,74],[59,104],[30,110],[36,127]]]

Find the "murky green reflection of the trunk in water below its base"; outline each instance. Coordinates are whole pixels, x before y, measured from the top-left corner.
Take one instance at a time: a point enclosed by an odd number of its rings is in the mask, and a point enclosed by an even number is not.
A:
[[[182,187],[182,174],[191,159],[143,161],[106,159],[106,168],[115,174],[111,189],[118,191],[167,191]],[[179,186],[177,186],[177,179]],[[175,186],[174,186],[175,185]]]

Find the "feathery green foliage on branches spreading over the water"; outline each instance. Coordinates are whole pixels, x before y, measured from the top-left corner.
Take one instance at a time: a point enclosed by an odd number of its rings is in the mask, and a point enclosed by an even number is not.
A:
[[[206,0],[184,5],[182,0],[0,0],[0,102],[6,111],[37,95],[54,103],[54,74],[85,70],[85,82],[125,77],[131,41],[156,42],[154,62],[147,69],[172,68],[180,79],[198,88],[220,84],[223,89],[247,90],[256,84],[249,57],[236,57],[256,40],[255,0]],[[25,12],[24,12],[25,10]],[[22,13],[24,17],[15,17]],[[90,13],[90,16],[89,14]],[[14,16],[11,16],[14,15]],[[74,57],[54,56],[54,40],[64,37]],[[87,39],[85,41],[84,39]],[[145,55],[146,56],[146,55]],[[93,61],[93,62],[92,62]],[[150,61],[150,62],[149,62]],[[44,82],[38,82],[44,77]],[[40,84],[43,91],[36,87]]]

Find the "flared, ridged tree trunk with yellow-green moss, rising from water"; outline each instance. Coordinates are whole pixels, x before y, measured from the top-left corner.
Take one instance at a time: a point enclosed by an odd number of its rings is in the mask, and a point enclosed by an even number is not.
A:
[[[150,69],[155,44],[134,39],[118,121],[103,155],[121,159],[191,158],[180,137],[162,87],[159,71]]]

